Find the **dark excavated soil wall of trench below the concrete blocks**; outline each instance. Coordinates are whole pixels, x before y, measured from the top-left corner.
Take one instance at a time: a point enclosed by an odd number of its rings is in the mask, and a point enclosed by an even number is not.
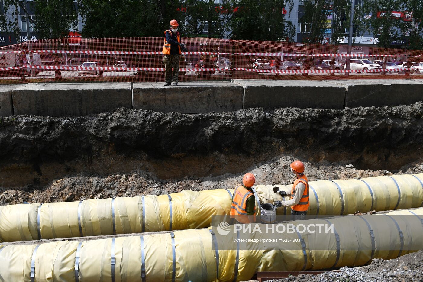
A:
[[[420,158],[422,116],[423,102],[345,110],[188,115],[119,108],[79,118],[12,116],[0,121],[0,186],[133,169],[162,179],[237,173],[281,153],[392,170]]]

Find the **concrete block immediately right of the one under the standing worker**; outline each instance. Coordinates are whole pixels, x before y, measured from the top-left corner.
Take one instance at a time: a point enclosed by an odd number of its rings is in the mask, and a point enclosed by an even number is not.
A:
[[[244,108],[342,109],[345,87],[322,81],[234,80],[244,87]]]

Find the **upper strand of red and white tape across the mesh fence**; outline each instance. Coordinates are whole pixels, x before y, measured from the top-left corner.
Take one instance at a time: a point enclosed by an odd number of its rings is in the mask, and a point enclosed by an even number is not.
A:
[[[33,51],[11,51],[11,52],[0,52],[1,53],[68,53],[68,54],[92,54],[92,55],[163,55],[159,51],[78,51],[78,50],[33,50]],[[285,56],[285,57],[398,57],[398,56],[409,56],[409,57],[423,57],[420,55],[378,55],[378,54],[298,54],[298,53],[215,53],[215,52],[183,52],[184,55],[249,55],[249,56]]]

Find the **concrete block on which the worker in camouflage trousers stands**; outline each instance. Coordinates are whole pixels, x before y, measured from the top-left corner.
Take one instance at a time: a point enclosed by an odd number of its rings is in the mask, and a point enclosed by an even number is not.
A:
[[[242,109],[242,87],[231,82],[134,83],[134,109],[210,113]]]

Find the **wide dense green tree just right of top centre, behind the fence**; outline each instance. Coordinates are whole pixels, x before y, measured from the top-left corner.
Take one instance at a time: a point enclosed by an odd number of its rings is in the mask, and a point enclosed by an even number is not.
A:
[[[228,19],[232,39],[293,39],[295,26],[282,13],[284,7],[292,9],[293,0],[239,0],[232,6]]]

